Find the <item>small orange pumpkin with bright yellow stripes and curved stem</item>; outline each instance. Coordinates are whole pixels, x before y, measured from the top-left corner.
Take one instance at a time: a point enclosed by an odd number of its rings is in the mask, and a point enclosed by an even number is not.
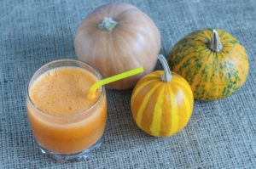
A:
[[[170,71],[163,55],[158,58],[164,70],[156,70],[137,82],[131,94],[131,113],[143,132],[166,137],[187,125],[194,99],[189,83]]]

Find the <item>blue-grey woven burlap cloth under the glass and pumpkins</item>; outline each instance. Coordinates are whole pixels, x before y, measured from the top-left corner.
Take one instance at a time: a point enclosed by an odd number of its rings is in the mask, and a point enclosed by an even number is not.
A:
[[[189,125],[171,138],[141,132],[131,91],[108,91],[102,148],[61,164],[40,154],[26,116],[26,83],[55,59],[76,59],[80,21],[104,0],[2,0],[0,5],[0,168],[256,168],[256,1],[130,0],[160,29],[161,54],[191,31],[220,28],[247,49],[247,82],[227,99],[195,102]]]

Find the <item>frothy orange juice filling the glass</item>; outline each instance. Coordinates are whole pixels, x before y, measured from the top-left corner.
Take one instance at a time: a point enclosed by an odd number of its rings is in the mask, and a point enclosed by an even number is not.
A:
[[[87,98],[96,80],[87,70],[63,66],[32,82],[29,94],[39,110],[27,101],[27,114],[41,146],[55,153],[75,154],[102,137],[107,120],[106,94],[98,99],[98,89],[95,99]]]

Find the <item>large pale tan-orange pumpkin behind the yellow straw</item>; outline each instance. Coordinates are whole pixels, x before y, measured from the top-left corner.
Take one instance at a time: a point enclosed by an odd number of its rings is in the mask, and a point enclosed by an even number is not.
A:
[[[138,8],[128,3],[108,3],[82,21],[74,48],[79,59],[95,66],[103,77],[143,67],[142,75],[107,85],[126,89],[154,70],[160,52],[160,33],[148,15]]]

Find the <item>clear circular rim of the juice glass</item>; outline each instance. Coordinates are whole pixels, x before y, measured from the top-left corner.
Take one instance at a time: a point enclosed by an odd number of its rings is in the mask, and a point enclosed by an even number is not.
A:
[[[81,60],[78,60],[78,59],[56,59],[56,60],[54,60],[54,61],[50,61],[49,63],[47,63],[47,64],[45,64],[45,65],[42,65],[38,70],[36,70],[36,71],[32,74],[32,76],[31,76],[29,82],[28,82],[27,85],[26,85],[26,99],[30,102],[30,104],[32,104],[32,106],[33,106],[35,109],[39,110],[40,113],[43,113],[43,114],[45,114],[45,115],[50,115],[50,116],[59,117],[59,118],[61,118],[61,117],[62,117],[62,118],[63,118],[63,117],[64,117],[64,118],[71,118],[71,117],[75,117],[75,116],[78,116],[78,115],[84,115],[84,114],[86,114],[86,113],[89,112],[91,109],[93,109],[93,108],[96,106],[96,104],[98,104],[98,102],[100,101],[100,99],[102,98],[103,93],[104,93],[104,89],[105,89],[104,86],[101,87],[101,93],[99,94],[99,96],[98,96],[98,98],[96,99],[96,102],[95,102],[94,104],[91,104],[90,107],[87,108],[86,110],[79,111],[78,113],[75,113],[75,114],[73,114],[73,115],[52,115],[52,114],[49,114],[49,112],[44,111],[44,110],[41,110],[40,108],[38,108],[38,106],[37,106],[36,104],[34,104],[34,102],[32,101],[32,99],[30,98],[29,87],[31,86],[32,78],[38,73],[39,70],[42,70],[45,66],[47,66],[47,65],[52,65],[52,64],[55,64],[55,63],[58,63],[58,62],[79,62],[79,63],[81,63],[81,64],[83,64],[83,65],[87,65],[87,66],[89,66],[92,70],[95,70],[95,71],[96,71],[96,75],[97,75],[97,77],[99,78],[99,80],[102,80],[102,75],[101,75],[100,71],[97,70],[96,67],[94,67],[94,66],[92,66],[92,65],[89,65],[89,64],[85,63],[84,61],[81,61]],[[74,66],[74,67],[76,67],[76,66]],[[80,67],[80,68],[81,68],[81,67]],[[84,68],[81,68],[81,69],[84,70]]]

